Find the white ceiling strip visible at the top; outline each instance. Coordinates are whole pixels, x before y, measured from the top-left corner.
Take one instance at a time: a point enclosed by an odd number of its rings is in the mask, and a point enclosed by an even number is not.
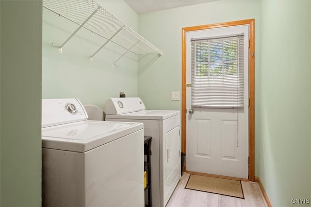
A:
[[[137,14],[155,12],[215,0],[124,0]]]

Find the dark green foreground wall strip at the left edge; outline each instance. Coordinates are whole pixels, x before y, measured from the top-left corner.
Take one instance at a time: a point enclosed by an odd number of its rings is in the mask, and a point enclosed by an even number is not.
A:
[[[42,2],[0,5],[0,206],[39,207]]]

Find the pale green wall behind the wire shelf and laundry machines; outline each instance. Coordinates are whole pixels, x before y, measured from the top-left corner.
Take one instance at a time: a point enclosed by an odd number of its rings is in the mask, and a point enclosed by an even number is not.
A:
[[[133,30],[138,30],[138,15],[122,0],[98,1],[105,9]],[[89,57],[106,39],[81,29],[63,47],[58,47],[72,34],[77,25],[63,17],[43,9],[43,54],[42,54],[42,97],[79,98],[83,104],[95,104],[104,109],[106,100],[138,95],[138,62],[131,52],[122,57],[125,50],[108,43],[93,62]]]

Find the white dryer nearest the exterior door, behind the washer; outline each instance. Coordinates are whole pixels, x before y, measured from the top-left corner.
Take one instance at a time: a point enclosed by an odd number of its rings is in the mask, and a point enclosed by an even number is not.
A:
[[[140,98],[110,98],[106,121],[144,124],[151,136],[151,195],[153,207],[165,207],[180,180],[180,111],[146,110]]]

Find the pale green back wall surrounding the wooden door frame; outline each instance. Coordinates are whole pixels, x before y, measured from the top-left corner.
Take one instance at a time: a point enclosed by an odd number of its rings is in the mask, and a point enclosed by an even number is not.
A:
[[[139,15],[139,34],[163,51],[158,59],[139,62],[138,95],[147,108],[181,109],[181,30],[183,27],[255,18],[259,54],[259,0],[219,0]],[[256,67],[258,67],[256,62]]]

